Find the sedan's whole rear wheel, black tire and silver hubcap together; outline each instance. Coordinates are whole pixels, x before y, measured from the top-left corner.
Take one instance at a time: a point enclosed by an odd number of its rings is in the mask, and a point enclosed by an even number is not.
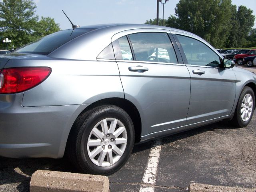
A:
[[[119,170],[134,146],[134,126],[120,107],[99,106],[78,117],[68,154],[82,172],[108,175]]]

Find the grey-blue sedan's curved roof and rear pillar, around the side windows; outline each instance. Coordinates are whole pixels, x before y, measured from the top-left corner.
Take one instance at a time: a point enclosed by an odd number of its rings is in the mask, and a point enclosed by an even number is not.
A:
[[[98,24],[81,26],[76,29],[91,29],[89,32],[82,34],[66,44],[60,46],[52,51],[48,56],[51,58],[74,59],[74,60],[95,60],[98,54],[102,52],[112,41],[115,34],[128,30],[169,30],[171,32],[178,32],[184,35],[194,37],[201,40],[208,46],[212,47],[208,42],[203,40],[196,34],[187,31],[169,28],[165,26],[147,25],[147,24]],[[72,30],[72,29],[69,29]],[[86,46],[84,46],[86,43]],[[212,47],[213,48],[213,47]],[[214,49],[214,48],[213,48]],[[86,53],[86,54],[84,54]],[[216,51],[217,53],[217,51]],[[218,53],[217,53],[218,54]],[[221,55],[220,55],[221,56]]]

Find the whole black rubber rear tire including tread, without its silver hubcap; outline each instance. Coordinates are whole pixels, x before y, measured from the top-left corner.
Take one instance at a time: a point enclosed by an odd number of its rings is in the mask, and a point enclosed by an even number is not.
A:
[[[106,118],[114,118],[122,122],[127,133],[127,143],[123,154],[114,164],[111,164],[110,166],[99,166],[94,163],[94,159],[90,159],[87,150],[87,142],[88,139],[90,139],[89,135],[94,126],[96,126],[97,123]],[[91,134],[91,136],[94,135]],[[76,119],[72,127],[72,132],[70,133],[70,136],[68,138],[68,146],[66,152],[68,153],[70,161],[81,172],[109,175],[119,170],[126,163],[134,146],[134,138],[134,125],[130,116],[122,108],[113,105],[99,106],[85,112],[84,114],[81,114]],[[101,144],[104,144],[104,142],[102,142]],[[110,144],[110,140],[107,144]],[[100,158],[100,154],[98,155],[98,158]]]

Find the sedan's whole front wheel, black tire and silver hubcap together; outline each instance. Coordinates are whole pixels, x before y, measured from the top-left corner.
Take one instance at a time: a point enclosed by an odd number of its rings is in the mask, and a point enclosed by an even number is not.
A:
[[[242,93],[238,99],[235,114],[232,119],[233,124],[236,127],[247,126],[254,112],[255,96],[252,88],[244,87]]]

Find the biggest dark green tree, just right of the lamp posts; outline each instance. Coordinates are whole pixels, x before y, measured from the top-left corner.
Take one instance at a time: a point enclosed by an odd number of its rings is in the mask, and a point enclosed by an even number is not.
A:
[[[167,26],[192,32],[216,48],[225,45],[230,32],[231,0],[180,0]]]

